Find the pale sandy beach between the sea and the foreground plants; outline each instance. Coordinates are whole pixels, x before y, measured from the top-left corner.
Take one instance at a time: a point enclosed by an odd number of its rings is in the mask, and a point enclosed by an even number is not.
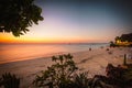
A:
[[[109,48],[109,51],[107,51],[107,48],[109,47],[73,53],[72,55],[79,68],[79,73],[89,72],[89,77],[105,75],[108,63],[111,63],[114,66],[123,64],[124,54],[131,55],[132,52],[129,47],[114,47]],[[35,75],[52,65],[51,57],[52,56],[1,64],[0,76],[4,73],[15,74],[21,78],[21,88],[33,88],[32,81]],[[129,63],[132,62],[129,61]]]

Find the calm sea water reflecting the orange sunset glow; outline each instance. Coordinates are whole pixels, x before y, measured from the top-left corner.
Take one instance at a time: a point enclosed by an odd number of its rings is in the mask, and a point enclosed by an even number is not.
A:
[[[99,48],[108,44],[0,44],[0,64],[45,57],[59,53]]]

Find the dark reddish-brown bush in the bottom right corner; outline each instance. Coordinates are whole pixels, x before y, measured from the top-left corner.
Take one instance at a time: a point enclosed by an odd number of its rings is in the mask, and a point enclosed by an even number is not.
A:
[[[101,88],[132,88],[132,68],[122,68],[120,65],[118,67],[108,64],[107,76],[96,75],[92,78],[91,87]]]

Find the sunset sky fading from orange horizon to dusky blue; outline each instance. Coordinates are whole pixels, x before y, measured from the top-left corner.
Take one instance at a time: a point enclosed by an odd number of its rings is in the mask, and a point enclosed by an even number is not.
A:
[[[24,35],[0,33],[0,43],[101,43],[130,33],[121,8],[105,2],[36,0],[44,20]]]

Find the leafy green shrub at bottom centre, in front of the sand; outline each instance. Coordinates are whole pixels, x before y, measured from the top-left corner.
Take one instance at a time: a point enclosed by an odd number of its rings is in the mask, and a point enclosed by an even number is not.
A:
[[[69,88],[73,74],[78,69],[73,61],[73,56],[70,54],[53,56],[52,61],[55,64],[47,67],[46,70],[42,70],[41,76],[36,75],[33,84],[36,87]]]

